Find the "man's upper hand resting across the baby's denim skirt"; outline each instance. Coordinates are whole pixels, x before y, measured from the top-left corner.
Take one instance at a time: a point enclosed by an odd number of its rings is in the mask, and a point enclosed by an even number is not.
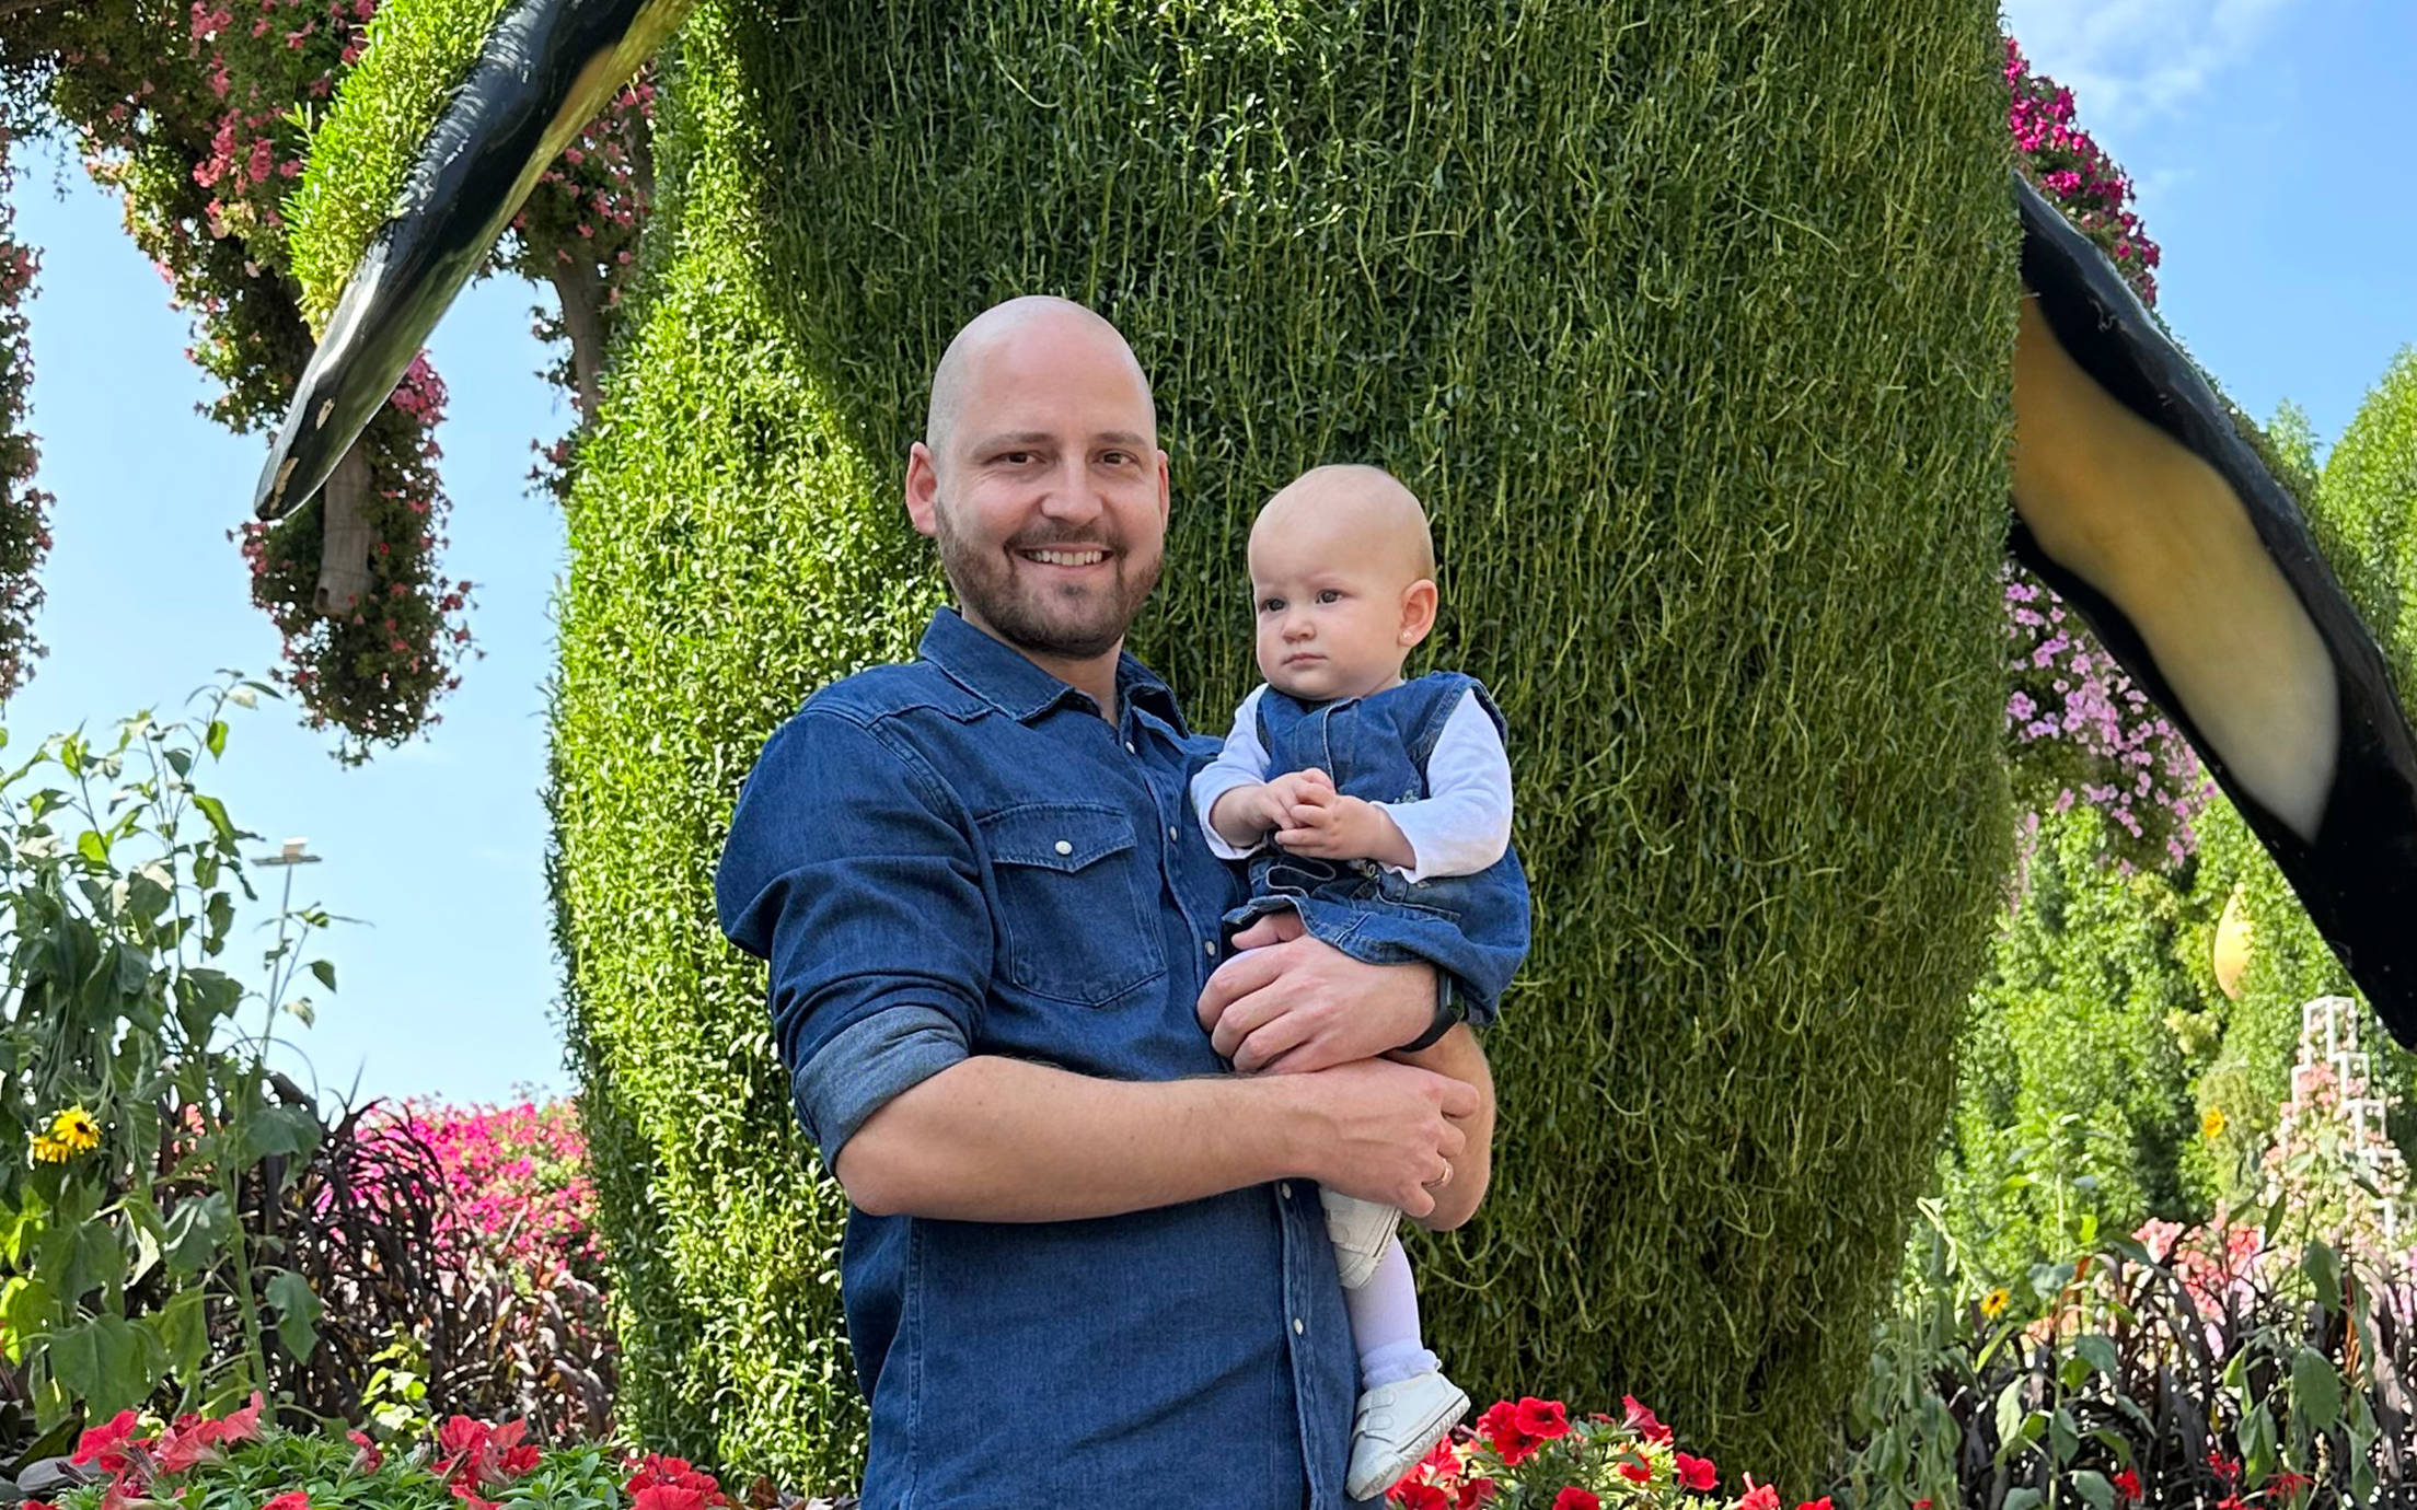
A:
[[[1235,935],[1242,949],[1208,976],[1199,1020],[1242,1073],[1308,1073],[1375,1058],[1436,1020],[1436,966],[1366,964],[1308,937],[1296,913]]]

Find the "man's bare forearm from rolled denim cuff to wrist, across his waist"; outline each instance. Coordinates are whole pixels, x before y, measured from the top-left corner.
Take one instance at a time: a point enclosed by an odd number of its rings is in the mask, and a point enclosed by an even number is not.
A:
[[[1283,1090],[1247,1078],[1097,1080],[974,1056],[882,1104],[831,1172],[875,1215],[1066,1222],[1283,1179],[1288,1136]]]

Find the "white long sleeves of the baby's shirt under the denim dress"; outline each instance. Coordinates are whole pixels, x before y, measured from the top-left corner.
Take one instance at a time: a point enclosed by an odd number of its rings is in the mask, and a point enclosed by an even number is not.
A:
[[[1252,846],[1225,843],[1225,836],[1208,821],[1208,809],[1233,788],[1257,785],[1283,771],[1267,768],[1267,747],[1259,744],[1259,696],[1267,686],[1252,689],[1242,705],[1233,710],[1233,732],[1218,759],[1192,778],[1192,807],[1201,814],[1201,831],[1208,850],[1221,860],[1242,860],[1259,853],[1267,841]],[[1375,802],[1409,841],[1407,870],[1387,865],[1402,879],[1424,882],[1431,875],[1477,875],[1503,858],[1511,848],[1511,756],[1503,751],[1501,732],[1477,693],[1462,693],[1453,715],[1436,734],[1436,749],[1426,756],[1426,797],[1419,802]]]

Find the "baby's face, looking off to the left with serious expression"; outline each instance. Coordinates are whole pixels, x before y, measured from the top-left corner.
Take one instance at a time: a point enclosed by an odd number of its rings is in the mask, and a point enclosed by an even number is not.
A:
[[[1366,698],[1402,681],[1424,638],[1407,633],[1404,599],[1419,582],[1416,546],[1351,507],[1269,505],[1250,532],[1250,590],[1259,618],[1259,674],[1303,701]],[[1308,503],[1308,500],[1305,500]],[[1315,500],[1327,503],[1327,500]]]

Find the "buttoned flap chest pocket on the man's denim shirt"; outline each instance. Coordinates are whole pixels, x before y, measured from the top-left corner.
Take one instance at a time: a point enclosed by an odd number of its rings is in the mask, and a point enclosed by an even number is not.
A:
[[[1121,807],[1020,802],[976,826],[1013,986],[1095,1007],[1167,974],[1158,867],[1134,846]]]

